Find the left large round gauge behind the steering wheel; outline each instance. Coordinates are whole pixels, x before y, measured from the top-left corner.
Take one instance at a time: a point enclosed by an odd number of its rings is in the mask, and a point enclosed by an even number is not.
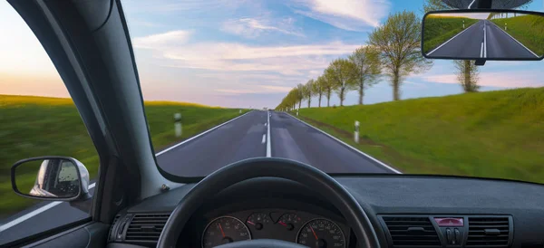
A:
[[[223,243],[249,240],[248,226],[235,217],[221,216],[212,220],[202,234],[202,247],[215,247]]]

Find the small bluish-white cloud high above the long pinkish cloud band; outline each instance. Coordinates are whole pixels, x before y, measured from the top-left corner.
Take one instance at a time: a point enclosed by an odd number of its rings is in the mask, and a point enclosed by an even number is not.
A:
[[[227,22],[223,23],[221,30],[226,33],[242,35],[246,38],[256,38],[262,33],[270,32],[304,37],[304,34],[295,30],[293,26],[294,19],[292,18],[283,19],[277,22],[277,24],[271,23],[273,22],[268,20],[241,18],[228,20]]]

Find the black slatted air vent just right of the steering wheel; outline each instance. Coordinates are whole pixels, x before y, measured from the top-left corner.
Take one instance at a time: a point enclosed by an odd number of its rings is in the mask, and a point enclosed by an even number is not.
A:
[[[383,216],[394,247],[441,246],[429,217]]]

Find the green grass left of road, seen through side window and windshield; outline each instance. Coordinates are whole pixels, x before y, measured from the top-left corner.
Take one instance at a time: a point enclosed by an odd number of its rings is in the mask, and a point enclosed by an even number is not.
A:
[[[180,102],[151,101],[145,109],[155,151],[239,115],[234,109]],[[173,132],[176,112],[182,115],[181,138]],[[98,171],[96,150],[72,100],[0,95],[0,218],[34,203],[12,192],[11,166],[26,157],[45,155],[75,157],[91,177]]]

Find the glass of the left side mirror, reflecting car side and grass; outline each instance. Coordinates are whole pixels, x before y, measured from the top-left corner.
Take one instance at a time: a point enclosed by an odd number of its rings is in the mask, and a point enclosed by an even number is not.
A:
[[[25,196],[73,198],[80,195],[80,176],[71,160],[29,160],[15,167],[15,186]]]

